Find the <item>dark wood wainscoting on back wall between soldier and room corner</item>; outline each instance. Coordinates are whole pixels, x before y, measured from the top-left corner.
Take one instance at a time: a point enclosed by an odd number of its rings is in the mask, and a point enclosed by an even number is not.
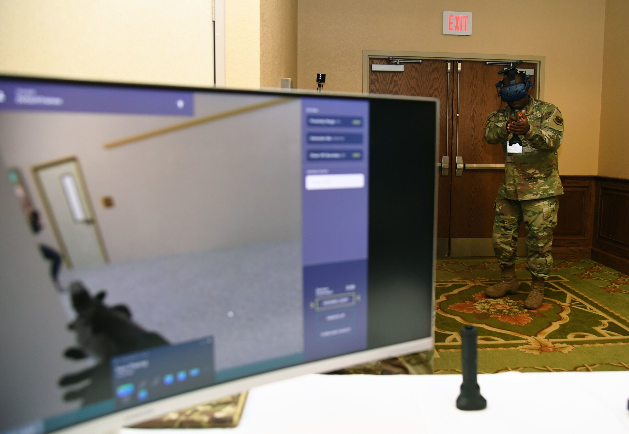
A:
[[[596,176],[562,176],[564,194],[559,197],[557,227],[553,234],[555,259],[591,257]]]

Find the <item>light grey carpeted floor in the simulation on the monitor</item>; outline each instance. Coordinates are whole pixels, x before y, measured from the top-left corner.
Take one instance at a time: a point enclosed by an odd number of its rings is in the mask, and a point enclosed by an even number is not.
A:
[[[74,280],[170,343],[214,336],[217,370],[303,351],[300,240],[62,271]]]

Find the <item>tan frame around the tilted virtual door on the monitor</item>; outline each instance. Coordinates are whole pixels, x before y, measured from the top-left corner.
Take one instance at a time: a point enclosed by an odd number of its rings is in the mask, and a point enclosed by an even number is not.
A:
[[[51,161],[46,161],[45,163],[35,164],[34,166],[31,167],[31,173],[33,174],[35,187],[37,189],[37,193],[39,194],[39,198],[42,201],[43,208],[46,211],[46,214],[48,216],[48,224],[50,224],[50,229],[52,229],[52,232],[55,235],[55,239],[57,240],[57,246],[61,253],[61,258],[64,261],[64,264],[67,268],[73,267],[72,260],[70,259],[70,254],[65,246],[64,237],[61,235],[61,231],[59,227],[57,226],[57,219],[55,219],[55,214],[52,211],[50,202],[48,202],[48,196],[46,195],[46,191],[43,187],[42,179],[39,176],[39,171],[42,169],[51,168],[53,166],[57,166],[58,164],[64,164],[64,163],[76,164],[79,181],[82,183],[84,187],[84,192],[86,195],[85,205],[89,213],[92,215],[92,219],[94,220],[93,227],[94,227],[94,234],[96,235],[96,241],[100,248],[101,254],[103,255],[104,263],[108,263],[109,254],[107,253],[107,249],[105,248],[103,234],[101,233],[101,227],[98,224],[98,219],[96,218],[96,212],[94,212],[94,207],[92,206],[92,198],[90,197],[89,190],[87,189],[87,183],[85,181],[83,169],[81,168],[81,163],[79,163],[79,159],[75,156],[58,158]]]

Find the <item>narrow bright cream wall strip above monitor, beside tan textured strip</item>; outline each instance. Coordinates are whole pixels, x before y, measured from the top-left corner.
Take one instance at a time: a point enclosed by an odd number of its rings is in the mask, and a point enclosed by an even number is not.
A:
[[[225,85],[260,87],[260,0],[225,0]]]

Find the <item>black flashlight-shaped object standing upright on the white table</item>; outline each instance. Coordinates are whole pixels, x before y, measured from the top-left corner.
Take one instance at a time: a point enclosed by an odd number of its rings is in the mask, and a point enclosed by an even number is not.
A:
[[[463,384],[461,394],[457,398],[457,408],[460,410],[482,410],[487,407],[487,401],[481,395],[481,387],[476,381],[478,371],[476,327],[462,326],[462,369]]]

